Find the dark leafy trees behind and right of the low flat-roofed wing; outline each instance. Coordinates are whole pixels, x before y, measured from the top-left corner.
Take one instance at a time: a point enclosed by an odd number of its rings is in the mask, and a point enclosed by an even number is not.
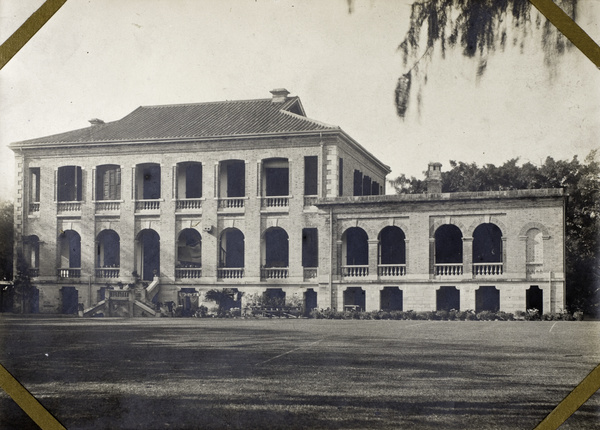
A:
[[[501,166],[450,161],[442,172],[442,192],[564,188],[568,193],[566,223],[567,306],[600,313],[600,163],[592,151],[580,162],[546,158],[541,166],[518,159]],[[404,175],[390,181],[397,193],[422,193],[424,181]]]

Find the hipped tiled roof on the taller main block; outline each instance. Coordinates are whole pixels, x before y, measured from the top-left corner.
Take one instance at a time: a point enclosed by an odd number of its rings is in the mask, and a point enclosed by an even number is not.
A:
[[[307,118],[298,97],[141,106],[124,118],[15,145],[268,135],[339,129]]]

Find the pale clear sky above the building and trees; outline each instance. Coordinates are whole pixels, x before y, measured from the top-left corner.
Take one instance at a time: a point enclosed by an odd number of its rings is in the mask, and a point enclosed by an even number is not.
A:
[[[2,0],[4,41],[43,0]],[[576,48],[543,64],[539,41],[476,64],[433,57],[421,108],[396,115],[398,45],[411,0],[69,0],[0,70],[0,199],[12,199],[8,144],[114,121],[138,106],[268,98],[287,88],[307,116],[340,126],[422,178],[449,160],[542,163],[600,147],[600,72]],[[578,23],[600,41],[600,0]],[[413,90],[415,88],[413,87]],[[391,187],[388,187],[388,192]]]

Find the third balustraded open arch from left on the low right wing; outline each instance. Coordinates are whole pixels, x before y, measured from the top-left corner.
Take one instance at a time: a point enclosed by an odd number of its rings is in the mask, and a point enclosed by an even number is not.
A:
[[[435,274],[462,275],[462,232],[452,224],[435,231]]]

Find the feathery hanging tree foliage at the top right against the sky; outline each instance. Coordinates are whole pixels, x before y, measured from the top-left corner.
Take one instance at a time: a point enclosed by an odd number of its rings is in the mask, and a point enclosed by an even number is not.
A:
[[[348,0],[352,11],[352,0]],[[558,5],[575,18],[577,0],[558,0]],[[550,66],[570,42],[539,13],[532,13],[529,0],[415,0],[411,6],[410,27],[398,49],[405,71],[395,90],[397,114],[404,118],[413,82],[417,103],[427,83],[427,68],[434,53],[445,58],[447,50],[460,48],[464,56],[477,62],[476,77],[486,70],[488,55],[512,43],[521,52],[524,40],[536,34]],[[423,40],[423,38],[425,40]]]

